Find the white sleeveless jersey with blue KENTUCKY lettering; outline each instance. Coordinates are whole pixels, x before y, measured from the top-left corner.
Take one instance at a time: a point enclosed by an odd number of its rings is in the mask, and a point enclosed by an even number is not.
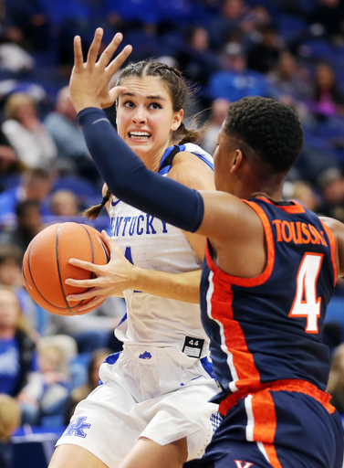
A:
[[[214,168],[210,154],[196,144],[183,144],[167,148],[162,156],[159,174],[168,174],[172,158],[180,151],[193,153],[204,164]],[[116,197],[110,200],[109,217],[112,239],[134,265],[171,273],[202,268],[202,260],[181,229],[130,207]],[[208,337],[203,331],[199,304],[184,303],[140,291],[127,290],[124,296],[127,316],[115,332],[124,343],[177,346],[193,357],[207,354]]]

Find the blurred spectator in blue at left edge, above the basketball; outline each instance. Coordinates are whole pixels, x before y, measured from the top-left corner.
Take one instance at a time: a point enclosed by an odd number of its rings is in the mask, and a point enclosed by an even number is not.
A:
[[[8,188],[0,194],[0,224],[16,223],[16,205],[20,201],[39,202],[42,216],[51,214],[47,196],[53,185],[53,176],[45,169],[26,169],[20,177],[19,185]]]

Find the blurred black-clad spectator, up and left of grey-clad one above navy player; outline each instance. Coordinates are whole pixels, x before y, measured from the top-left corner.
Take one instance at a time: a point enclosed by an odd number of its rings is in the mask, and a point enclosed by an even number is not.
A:
[[[278,36],[276,27],[268,26],[261,32],[261,37],[247,54],[247,68],[259,73],[267,73],[276,66],[283,40]]]

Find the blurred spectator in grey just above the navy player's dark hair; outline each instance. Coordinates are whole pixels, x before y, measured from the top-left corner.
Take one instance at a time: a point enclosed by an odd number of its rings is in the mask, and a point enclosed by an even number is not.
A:
[[[267,79],[284,93],[303,98],[312,96],[312,82],[308,72],[297,66],[296,58],[287,50],[281,52],[275,69],[268,73]]]

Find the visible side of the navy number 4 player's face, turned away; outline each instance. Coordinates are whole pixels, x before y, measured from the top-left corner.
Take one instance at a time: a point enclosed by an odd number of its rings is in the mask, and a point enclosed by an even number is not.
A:
[[[224,133],[224,127],[219,132],[214,153],[214,181],[216,190],[235,195],[235,177],[232,168],[236,151],[231,150],[230,138]]]

